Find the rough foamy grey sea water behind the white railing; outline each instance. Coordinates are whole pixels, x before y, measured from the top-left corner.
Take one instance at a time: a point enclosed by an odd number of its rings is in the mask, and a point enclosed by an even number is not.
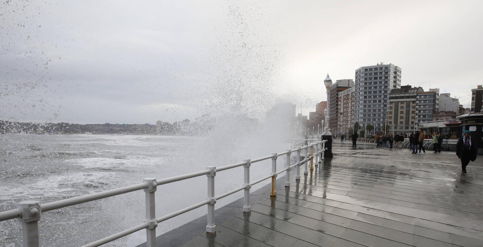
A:
[[[210,142],[203,137],[185,136],[2,134],[0,211],[13,209],[20,201],[47,203],[141,183],[144,177],[160,179],[242,158],[255,159],[290,147],[278,142],[259,144],[253,145],[249,138],[233,143],[228,139]],[[270,174],[270,162],[252,165],[252,181]],[[284,163],[284,157],[279,158],[279,167]],[[215,181],[216,195],[238,188],[243,184],[242,168],[220,172]],[[240,197],[242,191],[218,201],[216,206]],[[205,198],[206,176],[159,186],[156,217]],[[41,245],[85,245],[142,223],[144,210],[141,190],[45,212],[39,221]],[[159,235],[204,214],[206,206],[159,224],[156,232]],[[21,234],[18,220],[0,222],[0,247],[22,246]],[[106,246],[136,246],[144,241],[142,230]]]

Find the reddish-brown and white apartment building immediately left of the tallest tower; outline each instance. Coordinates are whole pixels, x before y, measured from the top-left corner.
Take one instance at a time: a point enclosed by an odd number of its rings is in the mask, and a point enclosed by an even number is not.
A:
[[[355,124],[355,87],[350,87],[339,93],[337,106],[337,133],[349,133]]]

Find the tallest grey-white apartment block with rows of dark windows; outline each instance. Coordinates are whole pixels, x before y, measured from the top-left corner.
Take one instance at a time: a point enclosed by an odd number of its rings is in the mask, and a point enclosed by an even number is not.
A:
[[[374,124],[381,131],[389,108],[389,93],[401,87],[401,68],[377,64],[355,70],[355,116],[360,125]]]

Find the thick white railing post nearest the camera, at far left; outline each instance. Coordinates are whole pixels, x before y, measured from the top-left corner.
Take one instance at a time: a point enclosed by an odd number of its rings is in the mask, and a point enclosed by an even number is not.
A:
[[[39,247],[39,224],[42,209],[39,201],[23,201],[17,204],[22,210],[22,234],[24,247]]]

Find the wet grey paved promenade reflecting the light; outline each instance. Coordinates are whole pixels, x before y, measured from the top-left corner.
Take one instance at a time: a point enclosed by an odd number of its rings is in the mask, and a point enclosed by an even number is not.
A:
[[[276,197],[252,193],[251,213],[240,200],[218,209],[216,234],[205,216],[159,246],[483,247],[483,156],[462,174],[454,152],[350,146],[335,142],[334,158],[290,187],[279,180]]]

